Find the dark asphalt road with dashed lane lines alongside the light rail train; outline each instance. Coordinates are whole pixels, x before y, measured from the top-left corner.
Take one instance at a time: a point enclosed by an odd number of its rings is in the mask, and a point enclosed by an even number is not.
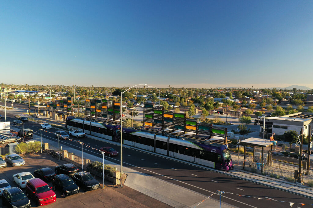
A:
[[[14,116],[10,113],[7,113],[7,121],[13,121]],[[15,126],[21,128],[21,126]],[[40,128],[39,124],[33,122],[24,123],[24,128],[32,128],[34,131]],[[50,132],[56,131],[55,129],[50,129]],[[40,135],[40,132],[36,133]],[[54,138],[53,134],[48,134],[42,132],[43,137],[49,140],[57,141]],[[108,142],[98,141],[91,138],[82,138],[81,141],[89,143],[89,146],[92,147],[101,147],[101,146],[111,146],[115,150],[120,151],[120,146],[110,144]],[[60,140],[60,145],[70,146],[81,150],[81,146],[78,143],[70,142],[68,140]],[[99,159],[102,158],[102,155],[97,151],[93,151],[91,148],[84,148],[84,152],[89,154],[99,156]],[[120,156],[109,158],[108,160],[115,163],[120,163]],[[298,203],[307,203],[311,204],[312,199],[304,196],[299,196],[287,191],[282,191],[274,189],[272,187],[260,185],[250,181],[245,181],[236,177],[228,176],[223,173],[210,170],[209,168],[201,168],[198,166],[193,166],[186,164],[184,162],[175,161],[163,156],[156,156],[151,153],[146,153],[141,150],[136,150],[134,148],[123,148],[123,165],[135,169],[140,172],[144,172],[151,176],[160,178],[165,181],[177,184],[179,186],[186,187],[193,191],[205,195],[211,195],[211,193],[216,192],[217,190],[231,192],[239,195],[254,196],[254,197],[268,197],[274,200],[280,201],[289,201],[289,202],[298,202]],[[218,196],[213,195],[212,197],[219,199]],[[238,207],[287,207],[290,206],[289,203],[277,202],[270,200],[257,200],[256,198],[250,198],[245,196],[238,196],[232,194],[224,194],[223,201],[228,204],[238,206]],[[301,207],[311,207],[311,206],[301,206]]]

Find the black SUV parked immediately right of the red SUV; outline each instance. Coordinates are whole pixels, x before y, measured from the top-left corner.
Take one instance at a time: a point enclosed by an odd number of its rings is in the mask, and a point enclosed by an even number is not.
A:
[[[57,175],[52,181],[53,190],[60,190],[62,196],[70,196],[79,192],[79,187],[75,184],[73,179],[65,174]]]

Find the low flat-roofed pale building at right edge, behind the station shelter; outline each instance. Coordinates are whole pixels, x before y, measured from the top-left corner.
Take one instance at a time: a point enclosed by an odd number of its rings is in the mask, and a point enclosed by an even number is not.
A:
[[[285,116],[265,118],[265,133],[267,135],[272,134],[273,132],[275,132],[276,135],[283,135],[285,131],[289,130],[297,131],[298,134],[300,134],[301,129],[303,129],[303,136],[312,134],[313,113],[298,112]],[[309,132],[309,129],[311,132]],[[263,128],[260,125],[260,135],[261,134],[263,134]]]

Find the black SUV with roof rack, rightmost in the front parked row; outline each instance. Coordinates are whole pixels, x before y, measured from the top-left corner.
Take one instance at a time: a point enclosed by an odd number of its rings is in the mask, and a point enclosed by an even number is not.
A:
[[[95,180],[95,178],[87,171],[75,173],[72,177],[75,183],[85,191],[99,188],[99,181]]]

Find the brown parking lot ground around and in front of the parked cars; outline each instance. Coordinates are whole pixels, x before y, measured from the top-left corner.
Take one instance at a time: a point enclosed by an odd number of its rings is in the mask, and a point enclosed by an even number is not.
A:
[[[0,169],[0,179],[6,179],[13,187],[16,186],[12,180],[12,175],[29,171],[33,171],[43,167],[54,167],[59,164],[65,164],[66,161],[58,161],[57,158],[43,153],[42,155],[29,154],[24,158],[26,164],[23,166],[11,167],[8,165]],[[102,178],[96,178],[102,184]],[[138,191],[135,191],[127,186],[123,188],[112,187],[111,183],[105,181],[104,189],[99,188],[94,191],[80,192],[78,194],[63,198],[59,191],[56,191],[57,200],[55,203],[45,207],[170,207],[160,201],[157,201],[149,196],[146,196]],[[52,186],[52,182],[48,183]],[[25,190],[24,190],[25,191]],[[1,201],[2,205],[2,201]],[[35,201],[31,199],[31,206],[34,207]],[[4,207],[4,206],[3,206]]]

